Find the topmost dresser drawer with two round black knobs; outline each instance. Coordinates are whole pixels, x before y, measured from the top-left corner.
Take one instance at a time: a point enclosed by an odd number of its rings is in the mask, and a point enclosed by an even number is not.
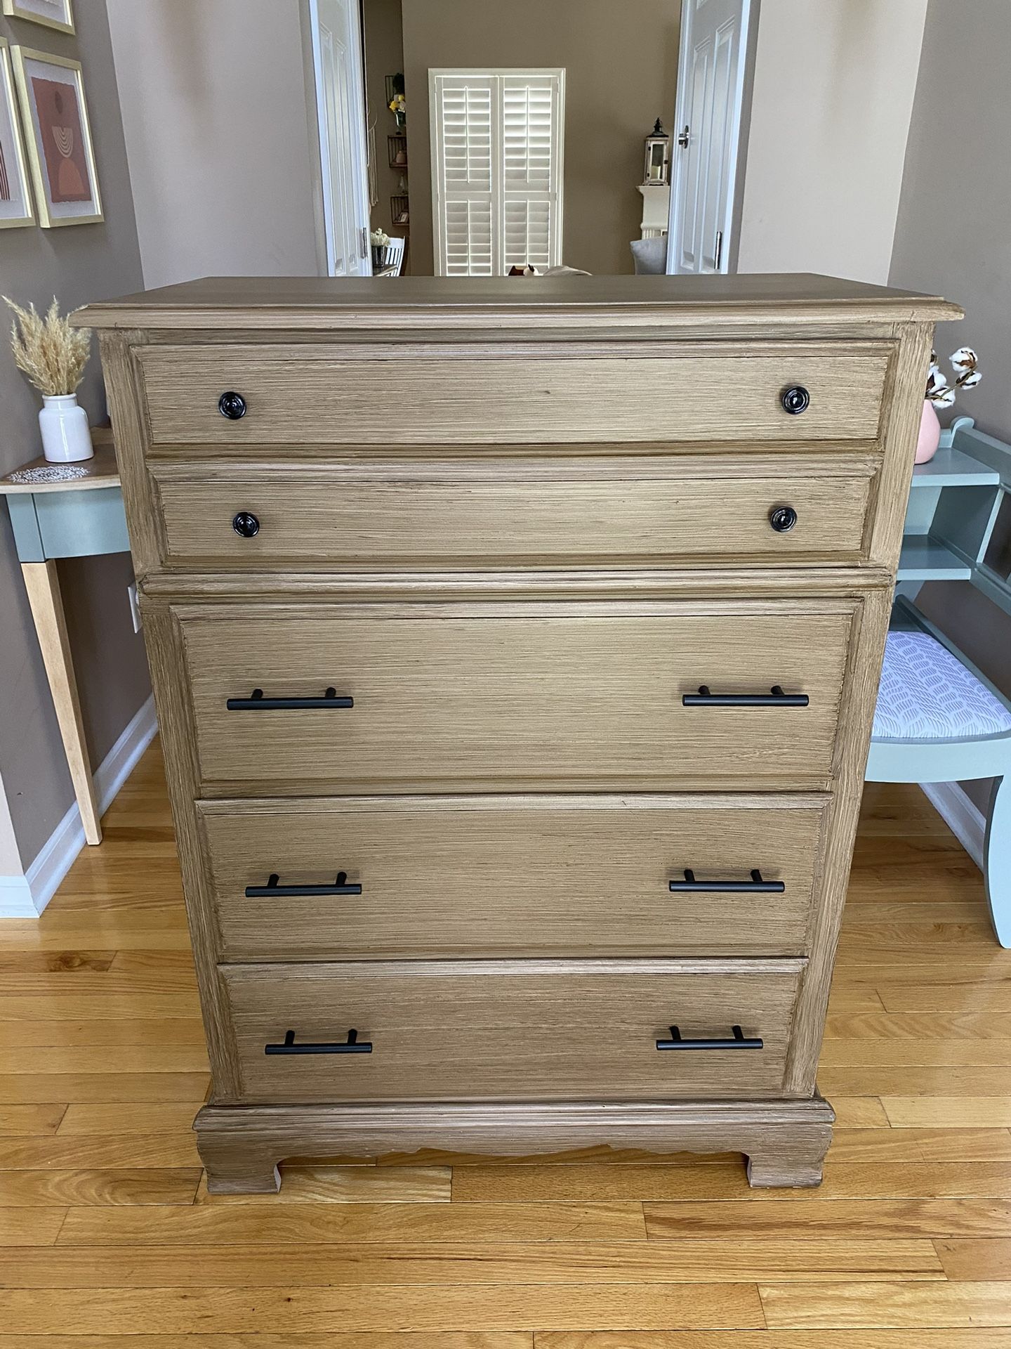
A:
[[[303,343],[144,347],[137,359],[154,445],[388,448],[874,440],[888,351]]]

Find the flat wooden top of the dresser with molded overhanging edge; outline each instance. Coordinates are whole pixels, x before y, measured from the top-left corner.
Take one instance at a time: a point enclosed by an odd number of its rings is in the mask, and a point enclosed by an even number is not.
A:
[[[394,329],[453,324],[516,326],[578,316],[728,326],[763,321],[934,322],[961,309],[936,295],[803,272],[736,277],[206,277],[98,301],[92,328]]]

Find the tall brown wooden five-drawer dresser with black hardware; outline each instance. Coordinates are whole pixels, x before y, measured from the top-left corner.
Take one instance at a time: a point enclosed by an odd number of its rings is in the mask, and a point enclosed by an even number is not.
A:
[[[816,1066],[933,324],[822,277],[220,279],[101,329],[213,1068],[291,1155],[737,1149]]]

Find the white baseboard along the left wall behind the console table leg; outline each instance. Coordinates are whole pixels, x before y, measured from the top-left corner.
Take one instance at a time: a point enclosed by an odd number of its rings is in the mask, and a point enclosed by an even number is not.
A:
[[[116,793],[136,768],[137,759],[154,739],[154,697],[127,723],[123,734],[94,773],[98,813],[104,815]],[[24,876],[0,876],[0,919],[36,919],[70,870],[85,846],[81,812],[74,803],[46,839],[40,853]]]

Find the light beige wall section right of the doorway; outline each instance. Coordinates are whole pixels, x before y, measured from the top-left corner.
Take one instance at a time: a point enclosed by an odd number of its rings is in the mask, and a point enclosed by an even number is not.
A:
[[[739,271],[887,281],[925,11],[762,0]]]

